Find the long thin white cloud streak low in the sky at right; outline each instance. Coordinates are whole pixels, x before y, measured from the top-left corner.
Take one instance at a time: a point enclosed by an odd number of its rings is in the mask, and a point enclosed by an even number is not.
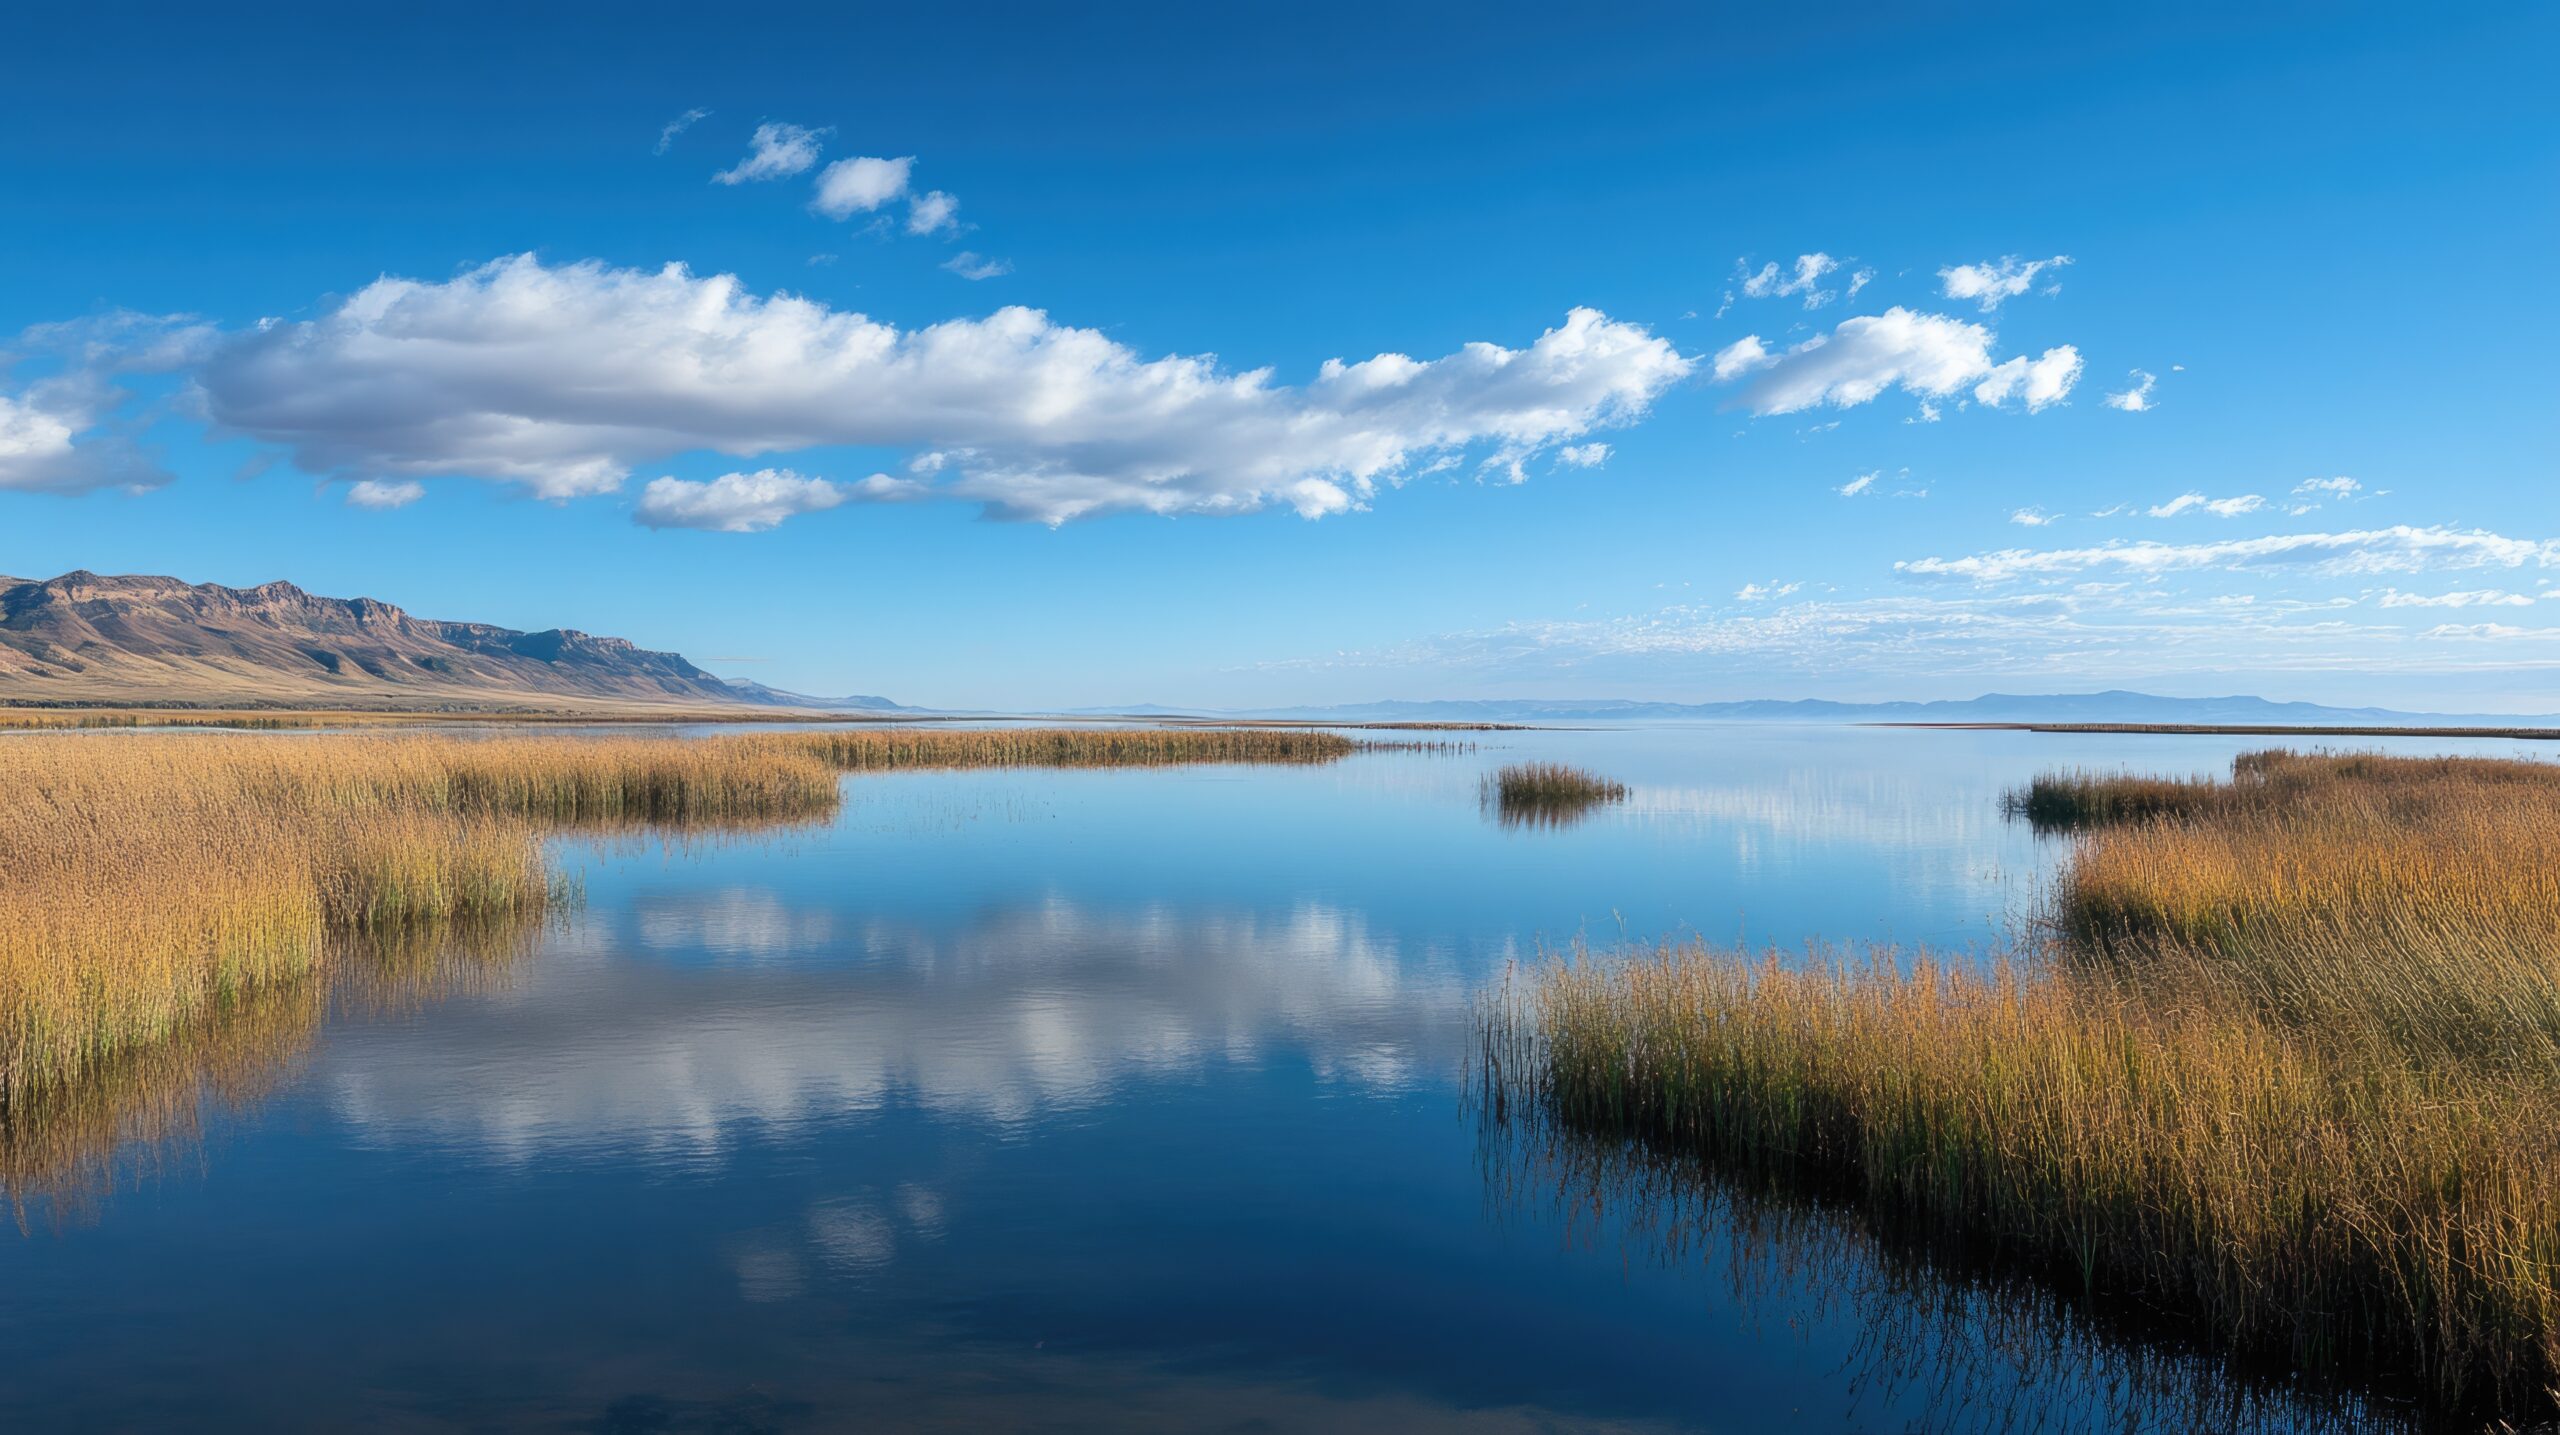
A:
[[[1910,578],[2007,583],[2068,573],[2120,570],[2161,576],[2196,568],[2312,568],[2319,573],[2419,573],[2427,568],[2560,565],[2560,542],[2501,537],[2483,529],[2383,527],[2355,532],[2289,532],[2227,542],[2104,542],[2097,547],[2004,547],[1971,558],[1915,558],[1894,563]]]

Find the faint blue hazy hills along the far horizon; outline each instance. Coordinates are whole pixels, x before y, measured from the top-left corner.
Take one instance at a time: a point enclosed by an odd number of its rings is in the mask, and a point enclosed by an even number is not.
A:
[[[1155,703],[1111,709],[1119,714],[1172,714]],[[1344,703],[1308,709],[1257,709],[1257,716],[1298,721],[2107,721],[2107,724],[2214,724],[2214,726],[2427,726],[2478,721],[2511,726],[2516,716],[2406,714],[2394,709],[2332,709],[2273,703],[2268,698],[2163,698],[2158,693],[1984,693],[1933,703],[1836,703],[1825,698],[1748,698],[1733,703],[1644,703],[1626,698],[1480,698],[1426,703]]]

